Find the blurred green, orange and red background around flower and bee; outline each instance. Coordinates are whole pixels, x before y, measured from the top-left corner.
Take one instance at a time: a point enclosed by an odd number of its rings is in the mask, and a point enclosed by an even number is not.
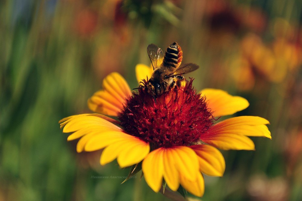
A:
[[[301,12],[300,0],[0,1],[0,200],[169,200],[76,153],[58,120],[89,113],[113,71],[137,87],[147,45],[174,41],[201,67],[186,76],[198,91],[245,97],[236,115],[271,122],[255,151],[223,152],[224,176],[205,176],[196,200],[302,200]]]

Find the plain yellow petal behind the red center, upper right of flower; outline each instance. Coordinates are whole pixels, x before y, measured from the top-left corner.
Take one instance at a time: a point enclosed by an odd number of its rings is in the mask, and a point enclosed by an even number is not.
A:
[[[234,114],[249,106],[249,102],[239,96],[232,96],[219,89],[203,89],[201,96],[206,97],[207,107],[211,109],[214,117]]]

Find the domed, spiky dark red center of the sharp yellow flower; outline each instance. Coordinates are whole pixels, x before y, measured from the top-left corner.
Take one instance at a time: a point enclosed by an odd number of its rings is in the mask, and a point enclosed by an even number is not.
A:
[[[156,102],[147,90],[139,89],[119,114],[124,130],[154,148],[198,142],[214,118],[205,97],[200,97],[192,87],[192,81],[156,97]]]

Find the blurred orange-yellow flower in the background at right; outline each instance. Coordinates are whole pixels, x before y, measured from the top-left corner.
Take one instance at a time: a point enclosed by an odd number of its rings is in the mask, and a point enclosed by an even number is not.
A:
[[[283,31],[288,29],[283,25]],[[297,73],[302,64],[301,45],[287,37],[277,37],[266,44],[258,35],[249,33],[241,41],[240,54],[230,66],[233,66],[232,76],[238,89],[242,91],[251,90],[259,78],[281,83],[289,78],[288,75]]]

